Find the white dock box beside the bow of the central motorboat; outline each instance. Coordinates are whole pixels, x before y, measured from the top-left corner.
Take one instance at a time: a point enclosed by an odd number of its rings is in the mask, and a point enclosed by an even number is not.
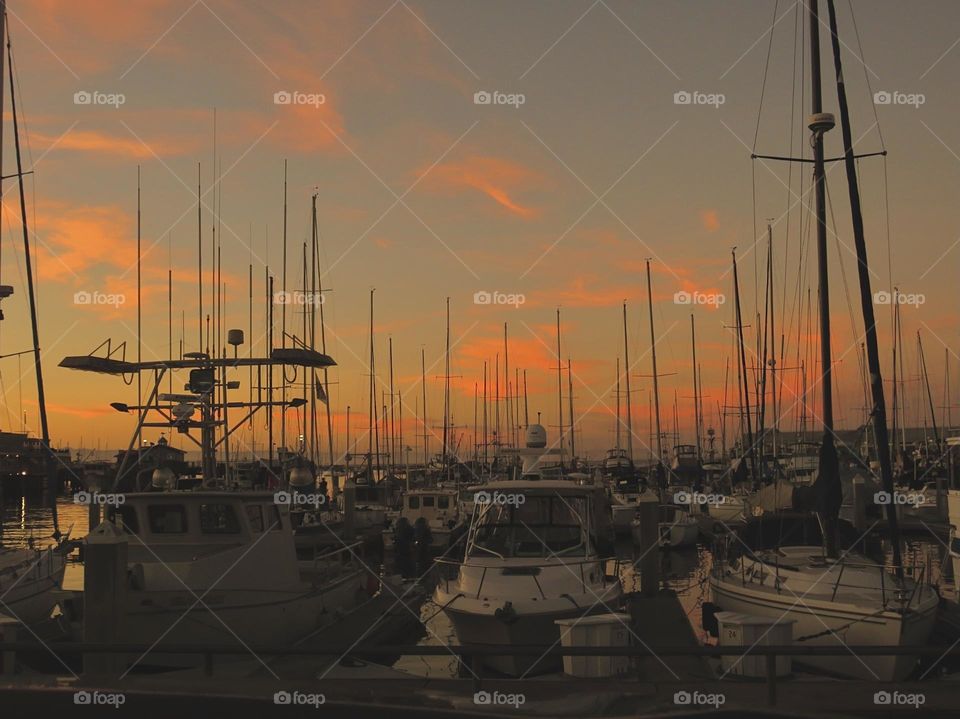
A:
[[[629,614],[595,614],[589,617],[558,619],[560,644],[564,647],[630,646]],[[563,672],[572,677],[614,677],[626,674],[630,657],[563,658]]]

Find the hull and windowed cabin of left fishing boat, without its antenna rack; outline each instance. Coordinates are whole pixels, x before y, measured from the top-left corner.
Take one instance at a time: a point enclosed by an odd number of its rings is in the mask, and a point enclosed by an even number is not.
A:
[[[132,644],[292,643],[365,591],[363,572],[339,553],[297,560],[289,508],[272,493],[127,494],[112,519],[88,541],[111,531],[128,537],[121,626]]]

